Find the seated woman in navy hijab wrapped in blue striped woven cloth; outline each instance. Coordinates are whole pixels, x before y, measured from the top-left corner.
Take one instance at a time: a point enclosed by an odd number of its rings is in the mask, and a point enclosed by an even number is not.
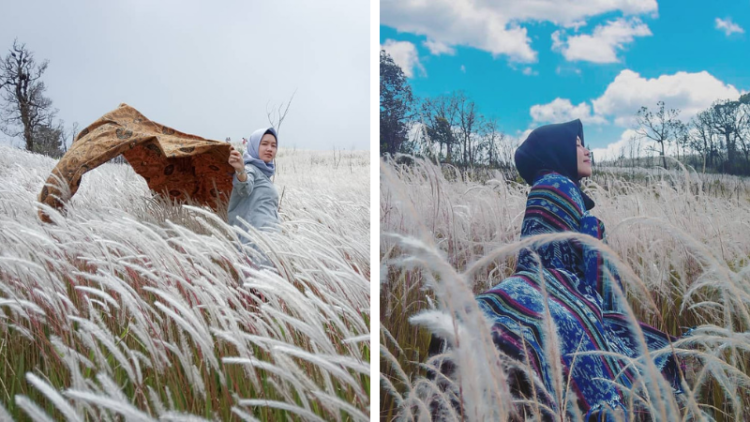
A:
[[[590,153],[583,142],[580,120],[535,129],[516,151],[515,161],[521,177],[532,186],[521,238],[561,232],[604,238],[604,225],[589,214],[594,201],[580,189],[581,178],[591,176]],[[556,402],[555,365],[545,354],[549,346],[545,342],[550,339],[544,334],[542,283],[557,330],[563,389],[575,397],[572,401],[586,413],[585,420],[614,420],[614,411],[627,415],[624,403],[629,398],[623,393],[640,373],[628,365],[627,359],[613,354],[638,358],[639,340],[615,297],[613,283],[620,283],[617,273],[598,251],[570,240],[522,250],[515,274],[477,297],[492,324],[496,347],[533,368],[546,390],[539,393],[540,388],[536,389],[545,404],[555,412],[565,408],[566,403]],[[674,341],[646,324],[641,323],[640,328],[649,350]],[[654,359],[674,391],[679,392],[674,362],[665,354]],[[526,380],[518,382],[525,384]]]

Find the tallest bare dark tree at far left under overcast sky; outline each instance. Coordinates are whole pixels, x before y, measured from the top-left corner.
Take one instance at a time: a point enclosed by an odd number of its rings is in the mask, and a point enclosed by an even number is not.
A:
[[[51,125],[56,110],[44,96],[41,78],[48,62],[38,63],[25,44],[13,41],[13,47],[0,62],[0,90],[4,104],[0,109],[0,130],[8,136],[23,136],[26,149],[34,151],[35,135],[40,127]],[[49,134],[49,131],[46,132]]]

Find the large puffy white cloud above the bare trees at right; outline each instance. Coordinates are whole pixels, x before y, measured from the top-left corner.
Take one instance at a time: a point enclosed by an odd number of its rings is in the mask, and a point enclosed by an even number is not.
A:
[[[653,108],[657,101],[664,101],[667,108],[680,109],[680,119],[687,121],[714,101],[736,99],[739,95],[737,88],[706,71],[647,79],[626,69],[591,103],[595,115],[612,116],[615,124],[630,126],[641,106]]]

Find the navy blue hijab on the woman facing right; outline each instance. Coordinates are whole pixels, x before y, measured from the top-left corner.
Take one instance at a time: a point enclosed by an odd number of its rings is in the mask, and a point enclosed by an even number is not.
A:
[[[533,185],[540,173],[554,171],[572,180],[580,188],[576,137],[581,138],[581,144],[586,146],[583,141],[583,124],[579,119],[532,130],[516,150],[518,173],[526,183]],[[581,195],[586,209],[594,208],[594,201],[583,191]]]

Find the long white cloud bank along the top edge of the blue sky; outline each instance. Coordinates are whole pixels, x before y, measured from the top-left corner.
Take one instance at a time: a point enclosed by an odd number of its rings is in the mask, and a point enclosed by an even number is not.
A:
[[[655,15],[657,4],[656,0],[382,0],[380,22],[433,42],[534,62],[537,53],[520,23],[552,22],[578,28],[587,18],[613,12]]]

